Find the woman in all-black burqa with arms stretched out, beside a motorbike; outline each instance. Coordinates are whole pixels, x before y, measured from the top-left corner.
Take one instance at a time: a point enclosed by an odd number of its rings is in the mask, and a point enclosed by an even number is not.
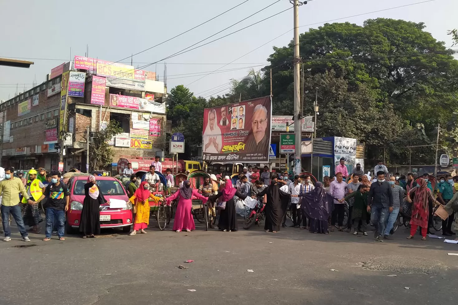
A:
[[[257,196],[262,197],[265,194],[267,194],[267,203],[264,209],[266,214],[264,230],[277,233],[282,225],[291,195],[280,190],[280,186],[277,184],[277,176],[273,176],[270,185],[261,193],[258,193]]]

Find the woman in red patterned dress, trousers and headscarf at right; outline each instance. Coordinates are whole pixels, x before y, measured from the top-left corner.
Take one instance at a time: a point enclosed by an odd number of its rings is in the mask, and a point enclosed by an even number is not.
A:
[[[428,203],[440,204],[432,196],[431,190],[428,188],[428,181],[420,178],[417,180],[417,186],[411,188],[407,194],[406,200],[409,203],[412,203],[412,217],[410,219],[410,235],[407,239],[414,238],[415,232],[417,231],[418,226],[421,228],[421,235],[423,238],[422,241],[426,240],[426,232],[428,230]]]

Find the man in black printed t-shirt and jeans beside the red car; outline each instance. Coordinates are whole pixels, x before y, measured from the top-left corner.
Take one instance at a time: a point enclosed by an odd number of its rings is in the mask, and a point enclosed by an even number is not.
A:
[[[38,198],[37,202],[40,202],[44,198],[46,201],[46,235],[43,241],[49,241],[53,226],[57,228],[57,235],[60,241],[65,241],[65,212],[68,210],[68,203],[70,201],[70,193],[65,184],[60,182],[60,172],[53,172],[51,177],[51,183],[44,190],[43,195]]]

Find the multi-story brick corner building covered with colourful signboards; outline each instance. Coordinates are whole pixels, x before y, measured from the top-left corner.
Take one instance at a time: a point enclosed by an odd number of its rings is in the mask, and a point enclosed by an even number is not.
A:
[[[114,163],[120,156],[152,158],[164,142],[165,91],[154,72],[75,56],[0,105],[2,166],[58,170],[63,157],[64,171],[85,171],[87,127],[97,136],[110,120],[123,129],[109,141]]]

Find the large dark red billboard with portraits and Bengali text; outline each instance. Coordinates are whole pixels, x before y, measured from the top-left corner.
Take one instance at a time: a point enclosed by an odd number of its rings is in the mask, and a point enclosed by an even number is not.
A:
[[[204,109],[203,160],[267,162],[271,118],[270,96]]]

